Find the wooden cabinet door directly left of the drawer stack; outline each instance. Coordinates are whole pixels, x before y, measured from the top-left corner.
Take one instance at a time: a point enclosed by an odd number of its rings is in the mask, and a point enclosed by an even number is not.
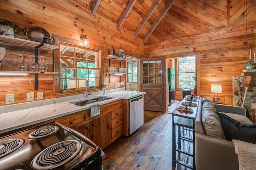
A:
[[[111,143],[111,114],[100,117],[100,147],[106,148]]]

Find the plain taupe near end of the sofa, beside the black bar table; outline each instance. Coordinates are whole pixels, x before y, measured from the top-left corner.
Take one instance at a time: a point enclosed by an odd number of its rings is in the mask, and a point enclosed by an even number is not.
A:
[[[196,133],[196,170],[238,170],[234,143]]]

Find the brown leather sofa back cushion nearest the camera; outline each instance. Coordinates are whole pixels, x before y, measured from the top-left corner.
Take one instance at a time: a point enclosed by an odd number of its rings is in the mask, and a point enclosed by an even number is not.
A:
[[[226,139],[218,115],[214,112],[214,106],[208,100],[202,104],[202,124],[206,135]]]

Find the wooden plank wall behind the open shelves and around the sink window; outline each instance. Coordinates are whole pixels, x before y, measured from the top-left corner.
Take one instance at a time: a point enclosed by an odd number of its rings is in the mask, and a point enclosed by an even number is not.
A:
[[[89,48],[104,49],[104,57],[110,54],[111,47],[116,50],[122,45],[124,51],[131,56],[143,57],[143,39],[137,37],[134,39],[134,32],[121,28],[117,30],[117,24],[110,22],[108,18],[96,13],[95,16],[90,14],[90,6],[81,4],[70,5],[71,2],[63,0],[1,0],[0,1],[0,18],[11,21],[22,29],[16,37],[26,39],[22,35],[23,28],[31,25],[38,25],[46,29],[50,36],[59,35],[68,39],[80,40],[80,35],[87,35],[90,40]],[[85,0],[85,4],[90,4],[90,0]],[[59,5],[57,5],[59,4]],[[74,12],[75,11],[75,12]],[[0,43],[0,47],[2,47]],[[33,55],[31,49],[8,49],[6,57],[3,59],[2,70],[16,69],[17,63],[21,60],[18,55],[25,53],[27,56]],[[53,53],[40,51],[44,54],[46,64],[53,69]],[[27,63],[29,58],[25,59]],[[124,64],[121,62],[121,65]],[[111,66],[120,66],[119,61],[111,61]],[[108,70],[108,60],[104,59],[104,72]],[[115,88],[115,84],[125,81],[125,76],[110,76],[104,74],[104,84],[108,89]],[[26,93],[34,92],[34,99],[37,100],[37,92],[44,92],[44,99],[54,98],[54,75],[40,74],[38,90],[34,90],[34,75],[27,76],[30,82],[23,76],[1,76],[0,77],[0,106],[5,105],[5,95],[15,94],[15,104],[26,102]],[[124,87],[124,86],[121,86]]]

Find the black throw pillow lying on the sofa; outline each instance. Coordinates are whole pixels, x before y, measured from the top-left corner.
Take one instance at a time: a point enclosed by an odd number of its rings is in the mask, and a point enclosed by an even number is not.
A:
[[[237,139],[240,141],[256,144],[256,124],[245,125],[231,117],[215,112],[220,118],[225,137],[228,141]]]

